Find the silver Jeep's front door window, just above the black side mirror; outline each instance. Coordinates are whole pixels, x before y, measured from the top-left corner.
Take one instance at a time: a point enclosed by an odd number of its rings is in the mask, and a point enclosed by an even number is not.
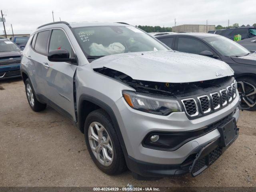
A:
[[[64,31],[60,29],[52,30],[50,38],[49,52],[58,49],[65,49],[70,57],[74,57],[74,51]]]

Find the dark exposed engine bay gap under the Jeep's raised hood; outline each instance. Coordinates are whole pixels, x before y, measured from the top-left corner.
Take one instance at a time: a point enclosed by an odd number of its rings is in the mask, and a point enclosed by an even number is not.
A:
[[[200,82],[189,82],[189,83],[162,83],[162,82],[150,82],[142,80],[134,80],[130,76],[112,70],[110,68],[96,68],[94,71],[112,77],[116,80],[120,80],[125,84],[134,88],[137,92],[154,94],[158,96],[168,96],[172,98],[186,97],[192,94],[198,94],[204,90],[205,92],[211,91],[214,88],[218,88],[223,84],[230,81],[231,77],[226,76],[222,78],[216,78],[213,80],[206,80]]]

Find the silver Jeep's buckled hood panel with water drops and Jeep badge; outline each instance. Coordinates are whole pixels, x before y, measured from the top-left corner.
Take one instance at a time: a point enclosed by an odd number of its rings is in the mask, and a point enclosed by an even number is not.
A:
[[[172,50],[104,56],[94,60],[91,66],[117,70],[135,80],[170,83],[211,80],[234,74],[230,66],[220,60]]]

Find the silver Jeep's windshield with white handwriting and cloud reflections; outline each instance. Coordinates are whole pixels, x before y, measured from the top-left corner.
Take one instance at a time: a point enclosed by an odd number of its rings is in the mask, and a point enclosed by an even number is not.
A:
[[[86,56],[168,50],[160,42],[133,26],[92,26],[74,28]],[[89,57],[88,57],[89,58]]]

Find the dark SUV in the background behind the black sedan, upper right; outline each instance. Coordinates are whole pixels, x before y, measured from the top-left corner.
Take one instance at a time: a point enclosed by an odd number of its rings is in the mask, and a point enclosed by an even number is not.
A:
[[[208,31],[208,33],[219,34],[231,40],[234,40],[235,35],[240,34],[242,36],[241,39],[247,39],[256,36],[256,27],[237,27],[222,30],[212,30]]]

